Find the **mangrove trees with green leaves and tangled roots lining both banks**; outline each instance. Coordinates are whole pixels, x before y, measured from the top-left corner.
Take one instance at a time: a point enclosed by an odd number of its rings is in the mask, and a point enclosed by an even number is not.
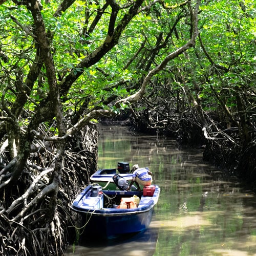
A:
[[[0,0],[0,251],[61,253],[98,118],[125,111],[141,130],[201,138],[205,157],[244,154],[255,177],[253,5]]]

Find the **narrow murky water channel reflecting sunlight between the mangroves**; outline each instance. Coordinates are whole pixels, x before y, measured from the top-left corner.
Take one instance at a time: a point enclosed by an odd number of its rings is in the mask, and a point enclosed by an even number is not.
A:
[[[256,255],[256,198],[175,140],[99,126],[99,168],[147,166],[161,194],[151,226],[113,241],[87,241],[65,255]]]

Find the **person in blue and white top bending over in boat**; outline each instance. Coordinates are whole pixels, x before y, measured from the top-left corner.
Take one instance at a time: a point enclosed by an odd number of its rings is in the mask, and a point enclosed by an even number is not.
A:
[[[152,172],[148,168],[139,168],[138,164],[135,164],[132,168],[133,180],[127,190],[131,189],[133,183],[138,187],[137,190],[141,191],[140,185],[149,186],[152,183]]]

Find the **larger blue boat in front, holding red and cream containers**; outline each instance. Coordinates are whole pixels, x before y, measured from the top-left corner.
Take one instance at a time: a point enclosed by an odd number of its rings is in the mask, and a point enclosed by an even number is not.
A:
[[[81,215],[86,235],[112,239],[148,228],[159,194],[158,185],[143,191],[122,191],[102,190],[92,184],[77,196],[71,208]]]

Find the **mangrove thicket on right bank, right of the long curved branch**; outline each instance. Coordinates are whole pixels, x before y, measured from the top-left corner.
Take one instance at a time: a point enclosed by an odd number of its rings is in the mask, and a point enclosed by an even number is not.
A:
[[[206,1],[199,16],[195,47],[153,78],[152,90],[140,102],[143,109],[134,113],[133,122],[140,131],[205,146],[206,160],[253,185],[255,4]],[[172,37],[175,45],[183,35],[178,25]]]

